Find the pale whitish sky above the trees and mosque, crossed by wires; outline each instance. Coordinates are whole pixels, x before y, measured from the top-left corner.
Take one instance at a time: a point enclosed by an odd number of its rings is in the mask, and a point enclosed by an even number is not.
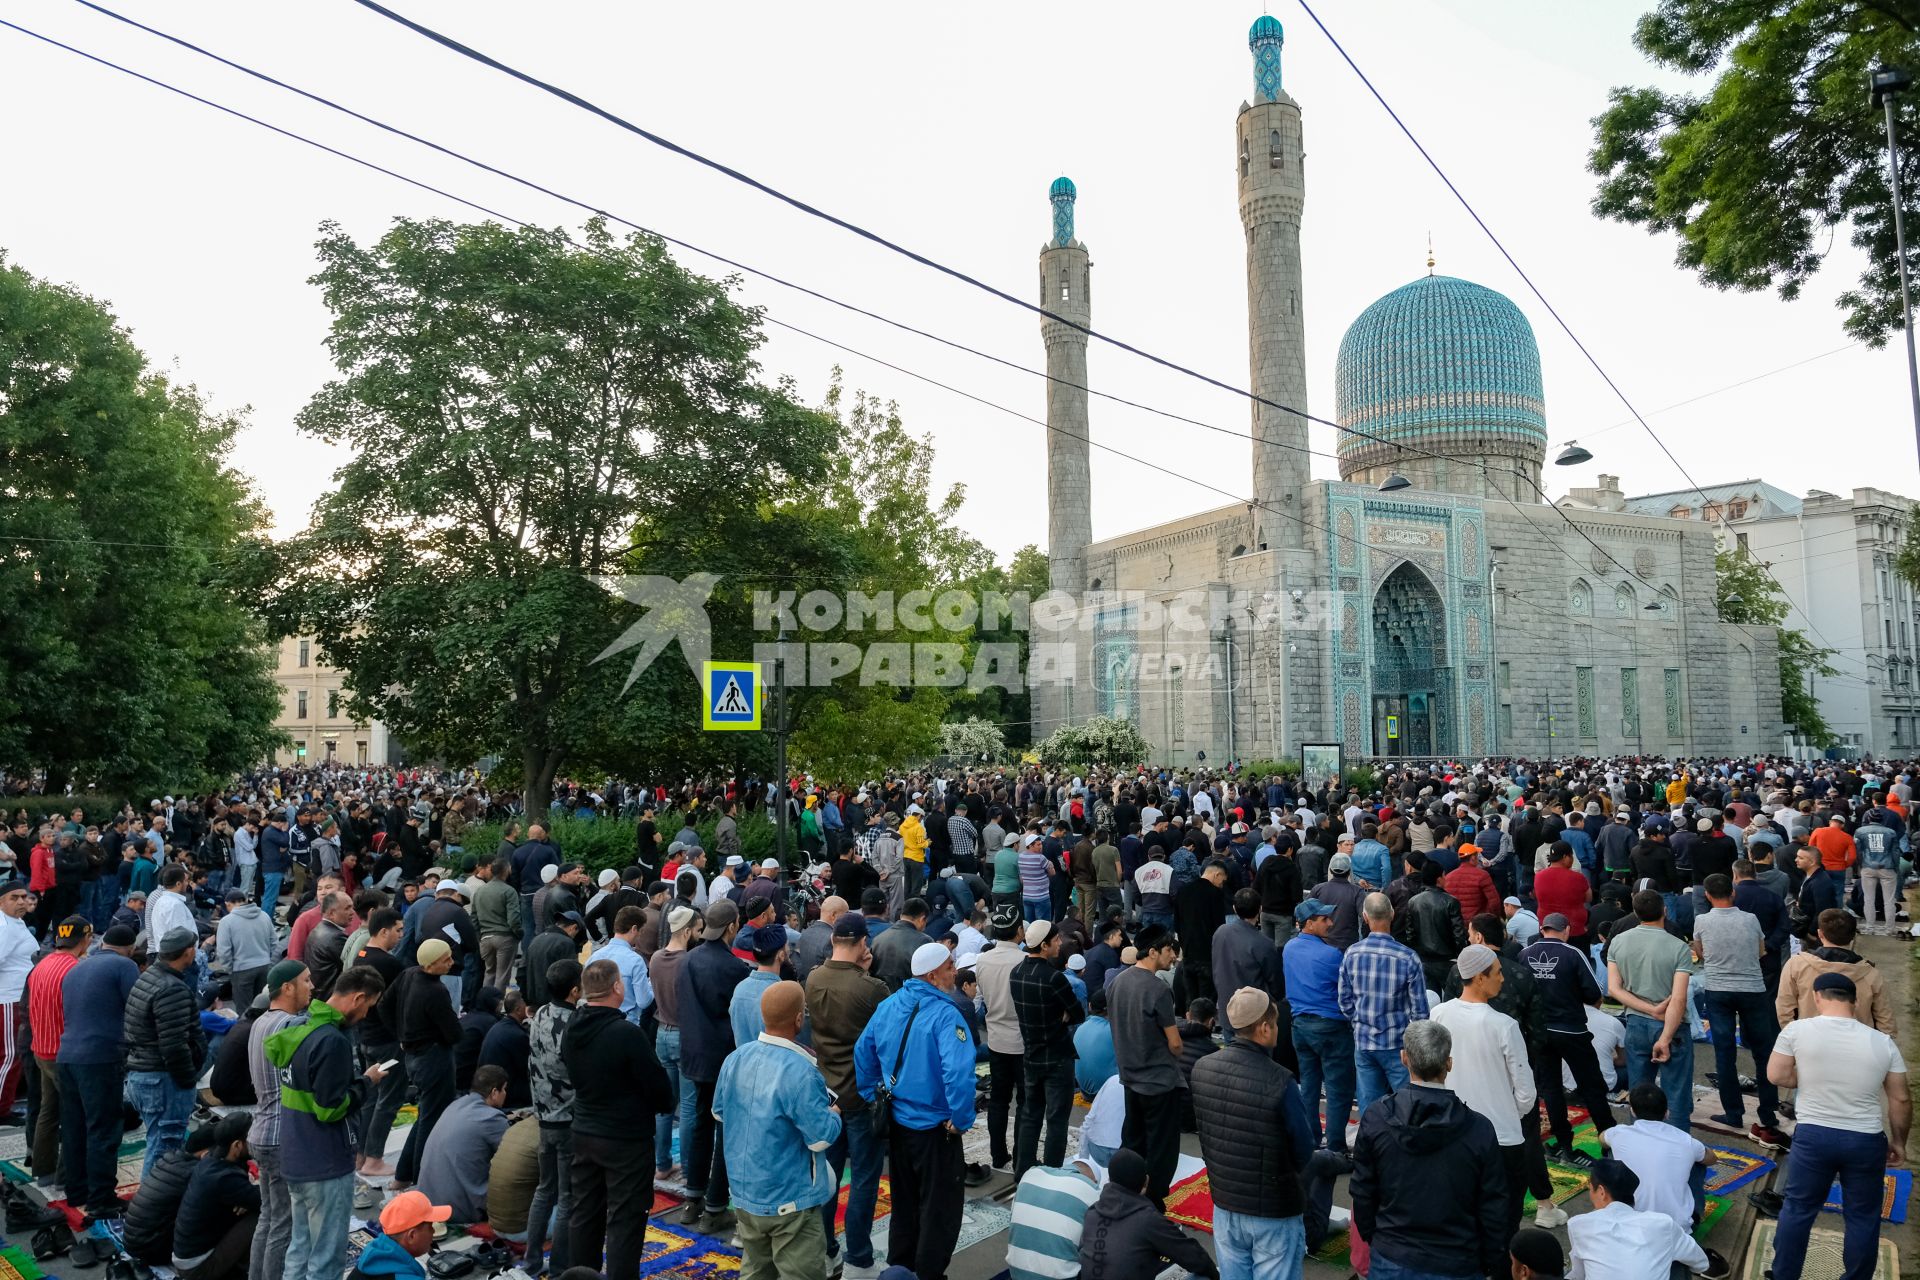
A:
[[[1920,493],[1905,355],[1847,345],[1832,299],[1859,263],[1837,240],[1797,303],[1718,294],[1674,267],[1672,240],[1596,221],[1590,117],[1615,84],[1659,83],[1630,44],[1651,0],[1321,0],[1321,17],[1507,242],[1701,484],[1761,476],[1795,493]],[[234,0],[121,12],[501,169],[1023,365],[1039,320],[674,157],[540,90],[457,58],[348,0]],[[612,4],[399,0],[396,8],[676,142],[1023,297],[1048,234],[1046,188],[1079,188],[1094,328],[1246,386],[1244,240],[1235,113],[1252,96],[1246,4]],[[1294,0],[1284,84],[1304,111],[1309,409],[1332,416],[1340,334],[1425,273],[1496,288],[1540,340],[1548,424],[1596,461],[1549,489],[1622,476],[1686,480],[1500,259]],[[424,178],[513,217],[578,211],[163,44],[69,0],[8,19]],[[1668,81],[1672,83],[1672,81]],[[1862,109],[1864,90],[1862,90]],[[478,217],[253,125],[0,29],[0,248],[106,299],[156,367],[215,405],[252,407],[236,451],[276,528],[305,522],[338,466],[294,415],[326,380],[328,315],[305,282],[323,219],[372,240],[394,217]],[[1914,140],[1920,144],[1920,138]],[[720,274],[707,259],[693,269]],[[1039,378],[960,355],[747,278],[747,301],[941,382],[1044,416]],[[1820,359],[1811,359],[1820,357]],[[770,330],[768,376],[818,401],[833,363],[931,432],[962,522],[1002,558],[1046,535],[1043,430]],[[1697,403],[1734,382],[1811,361]],[[1246,401],[1092,345],[1089,378],[1240,432],[1235,439],[1094,399],[1094,537],[1217,507],[1181,480],[1246,491]],[[1332,428],[1313,447],[1332,451]],[[1158,474],[1156,474],[1158,472]],[[1313,474],[1332,478],[1331,459]],[[1156,503],[1148,509],[1148,501]]]

